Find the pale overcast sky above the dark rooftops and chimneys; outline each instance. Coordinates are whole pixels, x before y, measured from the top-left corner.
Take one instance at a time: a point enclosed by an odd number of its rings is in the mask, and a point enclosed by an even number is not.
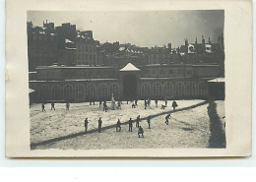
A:
[[[140,12],[46,12],[29,11],[28,21],[42,27],[48,20],[56,26],[71,23],[77,30],[93,30],[94,38],[101,43],[108,41],[130,42],[139,46],[172,47],[184,44],[184,38],[217,42],[224,32],[224,11],[140,11]]]

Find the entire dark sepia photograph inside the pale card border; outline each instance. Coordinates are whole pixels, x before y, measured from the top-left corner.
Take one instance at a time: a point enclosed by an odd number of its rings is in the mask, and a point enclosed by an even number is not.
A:
[[[224,10],[28,11],[30,148],[225,149]]]

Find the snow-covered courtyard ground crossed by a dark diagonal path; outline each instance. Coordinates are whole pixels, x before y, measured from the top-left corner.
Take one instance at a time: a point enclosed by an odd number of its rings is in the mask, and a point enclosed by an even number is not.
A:
[[[164,110],[160,109],[163,101],[159,101],[159,107],[156,107],[153,100],[147,109],[144,108],[143,100],[139,100],[136,108],[132,108],[131,104],[131,102],[127,104],[123,101],[121,110],[109,110],[108,112],[103,112],[102,107],[98,107],[98,102],[96,105],[90,105],[88,102],[71,103],[70,110],[66,110],[64,103],[56,103],[56,110],[50,110],[50,104],[46,104],[46,112],[41,112],[40,104],[33,104],[31,107],[31,143],[34,147],[32,149],[101,150],[209,148],[211,146],[209,144],[211,143],[210,117],[213,116],[209,116],[209,112],[212,111],[209,110],[209,103],[205,100],[177,100],[178,110],[171,113],[169,125],[164,123],[164,118],[167,111],[172,111],[170,100]],[[215,101],[214,105],[217,106],[215,112],[221,121],[220,131],[217,132],[224,133],[224,123],[222,123],[224,122],[224,101]],[[144,138],[138,138],[135,123],[133,132],[128,131],[128,124],[121,125],[121,132],[115,130],[117,119],[123,123],[130,118],[135,120],[138,115],[145,118],[157,114],[159,116],[151,120],[151,129],[148,129],[146,120],[140,122],[144,129]],[[84,120],[87,117],[89,132],[96,130],[97,120],[99,117],[102,118],[102,133],[83,134]],[[105,127],[108,128],[104,129]],[[74,137],[72,134],[79,135]],[[56,141],[47,143],[53,139]],[[45,144],[40,145],[43,142]]]

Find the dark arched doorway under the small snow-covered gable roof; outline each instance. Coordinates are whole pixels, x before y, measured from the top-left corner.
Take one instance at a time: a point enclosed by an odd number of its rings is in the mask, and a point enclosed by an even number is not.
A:
[[[123,78],[123,96],[125,98],[137,97],[137,78],[134,74],[126,74]]]

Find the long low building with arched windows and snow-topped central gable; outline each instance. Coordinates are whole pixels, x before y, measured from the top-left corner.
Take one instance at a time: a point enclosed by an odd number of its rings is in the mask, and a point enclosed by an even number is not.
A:
[[[124,68],[87,66],[38,67],[30,88],[37,102],[120,99],[190,99],[208,96],[207,81],[218,77],[219,65],[148,65]],[[205,74],[205,75],[204,75]],[[200,77],[194,77],[195,75]]]

